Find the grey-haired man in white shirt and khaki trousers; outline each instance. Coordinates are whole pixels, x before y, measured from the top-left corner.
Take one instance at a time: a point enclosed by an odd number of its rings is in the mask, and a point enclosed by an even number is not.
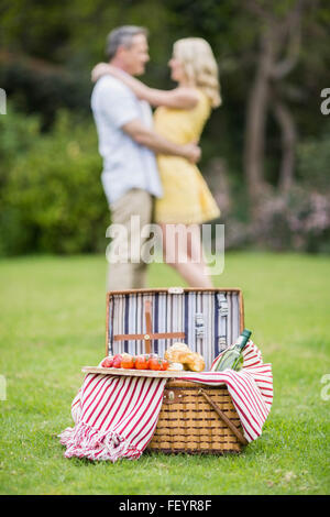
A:
[[[125,25],[110,32],[107,57],[112,66],[133,76],[144,73],[148,62],[147,33],[144,28]],[[96,84],[91,108],[99,136],[99,152],[103,158],[101,180],[110,207],[113,224],[124,226],[127,242],[116,239],[119,250],[127,250],[128,261],[110,263],[108,290],[146,287],[146,264],[131,261],[131,217],[140,217],[140,227],[151,222],[153,199],[162,197],[154,153],[184,156],[191,162],[199,158],[195,144],[176,145],[152,130],[152,111],[145,101],[117,78],[105,75]],[[125,239],[124,239],[125,240]],[[143,244],[141,239],[141,245]],[[114,243],[114,241],[113,241]],[[123,257],[124,260],[124,257]]]

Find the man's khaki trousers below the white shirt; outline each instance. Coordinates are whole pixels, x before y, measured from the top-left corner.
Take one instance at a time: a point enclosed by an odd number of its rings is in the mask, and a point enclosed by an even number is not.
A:
[[[144,224],[148,224],[152,220],[153,196],[146,190],[132,188],[127,191],[120,199],[110,205],[111,224],[123,224],[127,228],[129,260],[127,263],[109,263],[107,290],[135,289],[146,287],[146,268],[147,264],[139,261],[132,263],[131,255],[131,217],[140,216],[140,232]],[[132,240],[141,239],[141,246],[146,239],[142,239],[139,234],[132,237]],[[122,248],[125,238],[116,237],[113,246],[116,246],[118,255],[118,245]],[[112,242],[110,244],[110,248]],[[138,248],[141,251],[141,246]]]

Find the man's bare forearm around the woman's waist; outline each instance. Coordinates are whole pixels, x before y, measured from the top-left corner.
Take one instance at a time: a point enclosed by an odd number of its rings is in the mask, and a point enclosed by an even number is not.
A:
[[[196,163],[200,158],[201,153],[198,145],[194,143],[177,145],[155,131],[151,131],[145,128],[139,119],[125,123],[122,125],[122,130],[128,133],[138,144],[145,145],[157,154],[182,156],[191,163]]]

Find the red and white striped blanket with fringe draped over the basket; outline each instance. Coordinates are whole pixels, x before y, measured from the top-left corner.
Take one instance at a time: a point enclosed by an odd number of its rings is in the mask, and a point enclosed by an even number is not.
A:
[[[264,364],[250,340],[240,372],[193,373],[186,381],[226,384],[249,442],[262,433],[273,403],[272,365]],[[166,378],[87,374],[72,404],[74,428],[61,443],[65,457],[110,460],[138,459],[151,441],[162,407]]]

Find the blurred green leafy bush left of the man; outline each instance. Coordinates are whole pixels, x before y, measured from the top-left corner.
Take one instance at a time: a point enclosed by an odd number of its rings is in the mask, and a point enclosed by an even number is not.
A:
[[[36,119],[10,112],[1,125],[0,253],[103,251],[110,221],[92,120],[61,112],[41,134]]]

